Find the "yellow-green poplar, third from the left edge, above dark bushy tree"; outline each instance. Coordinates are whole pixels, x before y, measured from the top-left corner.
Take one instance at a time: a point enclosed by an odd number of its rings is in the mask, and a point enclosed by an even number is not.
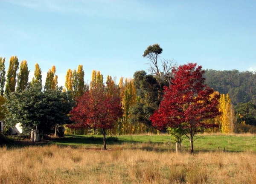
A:
[[[17,92],[24,91],[29,81],[29,68],[26,60],[20,62],[20,72],[17,75]]]

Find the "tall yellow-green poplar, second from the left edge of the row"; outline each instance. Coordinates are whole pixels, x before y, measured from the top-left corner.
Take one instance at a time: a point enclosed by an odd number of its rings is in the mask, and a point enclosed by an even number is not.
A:
[[[9,95],[9,93],[15,91],[15,85],[17,82],[16,76],[17,76],[17,70],[19,68],[19,60],[17,56],[12,56],[10,58],[9,68],[6,75],[6,90],[5,94],[6,96]]]

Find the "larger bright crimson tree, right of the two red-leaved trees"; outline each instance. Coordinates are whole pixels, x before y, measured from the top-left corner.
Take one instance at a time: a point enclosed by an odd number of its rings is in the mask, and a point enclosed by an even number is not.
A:
[[[160,130],[163,127],[181,128],[190,140],[191,153],[194,152],[195,133],[209,127],[218,127],[203,120],[220,115],[220,96],[216,94],[210,97],[214,90],[204,84],[204,70],[202,66],[196,68],[196,65],[188,63],[174,68],[173,85],[165,88],[160,108],[150,117],[152,125]]]

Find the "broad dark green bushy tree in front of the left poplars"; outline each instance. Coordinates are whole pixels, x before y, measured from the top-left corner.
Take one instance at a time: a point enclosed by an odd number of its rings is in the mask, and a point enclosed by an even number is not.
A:
[[[73,107],[69,92],[62,88],[41,91],[41,85],[35,83],[21,93],[13,92],[7,98],[5,107],[6,125],[10,127],[20,123],[23,129],[36,128],[50,132],[54,125],[70,123],[67,116]]]

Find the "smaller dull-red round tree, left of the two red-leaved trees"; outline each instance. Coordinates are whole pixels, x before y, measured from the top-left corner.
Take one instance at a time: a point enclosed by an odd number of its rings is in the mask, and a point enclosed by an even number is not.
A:
[[[103,145],[106,150],[106,130],[113,128],[116,120],[122,116],[122,103],[118,90],[114,88],[111,93],[104,85],[91,88],[84,92],[70,111],[70,119],[76,122],[70,128],[102,129]]]

